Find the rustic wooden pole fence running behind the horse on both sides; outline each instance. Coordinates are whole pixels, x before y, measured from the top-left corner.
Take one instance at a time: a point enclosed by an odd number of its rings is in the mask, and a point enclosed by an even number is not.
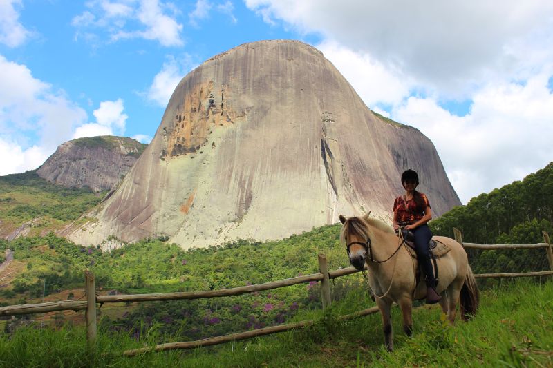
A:
[[[526,273],[482,273],[474,275],[475,278],[518,278],[531,276],[553,275],[553,247],[550,244],[549,235],[543,231],[544,243],[538,244],[474,244],[463,243],[462,235],[458,229],[453,229],[455,239],[465,246],[472,249],[537,249],[545,248],[547,259],[549,260],[551,271],[526,272]],[[345,275],[360,272],[354,267],[346,269],[338,269],[336,271],[328,271],[326,257],[319,255],[319,273],[311,275],[299,276],[297,278],[288,278],[285,280],[265,282],[264,284],[247,285],[245,287],[235,287],[232,289],[221,289],[212,291],[189,291],[178,293],[150,293],[150,294],[132,294],[132,295],[117,295],[117,296],[97,296],[94,275],[90,271],[85,271],[85,296],[86,300],[63,300],[59,302],[46,302],[40,304],[21,304],[11,305],[8,307],[0,307],[0,316],[15,316],[21,314],[46,313],[52,311],[85,311],[86,320],[86,337],[88,346],[91,349],[96,347],[96,304],[97,303],[116,303],[116,302],[145,302],[153,300],[180,300],[180,299],[200,299],[200,298],[218,298],[222,296],[238,296],[243,293],[253,293],[256,291],[277,289],[280,287],[288,287],[295,284],[304,284],[307,282],[321,282],[321,300],[323,308],[327,308],[331,304],[330,300],[330,279],[339,278]],[[339,320],[350,320],[367,316],[368,314],[377,313],[377,307],[364,309],[345,316],[340,316]],[[155,347],[144,347],[142,349],[133,349],[125,351],[127,356],[133,356],[143,353],[144,351],[164,351],[171,349],[190,349],[194,347],[204,347],[208,345],[221,344],[234,340],[244,340],[256,336],[268,335],[270,333],[278,333],[290,331],[310,326],[314,323],[313,320],[290,323],[287,325],[278,325],[266,327],[263,329],[255,329],[242,333],[232,333],[226,336],[218,336],[214,338],[206,338],[203,340],[190,342],[171,342],[168,344],[156,345]]]

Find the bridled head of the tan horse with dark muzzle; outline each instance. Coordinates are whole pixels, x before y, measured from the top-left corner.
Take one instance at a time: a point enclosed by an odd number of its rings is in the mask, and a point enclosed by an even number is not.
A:
[[[350,264],[358,270],[365,268],[366,257],[371,246],[371,239],[368,237],[368,219],[369,213],[364,217],[346,218],[340,215],[342,223],[340,231],[340,241],[346,245]]]

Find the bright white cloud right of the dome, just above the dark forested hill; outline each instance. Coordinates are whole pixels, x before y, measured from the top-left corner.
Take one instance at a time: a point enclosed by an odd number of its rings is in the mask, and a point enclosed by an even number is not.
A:
[[[553,70],[553,68],[547,68]],[[435,144],[462,202],[489,192],[552,161],[553,94],[549,72],[515,83],[491,84],[458,117],[434,99],[410,97],[392,118],[418,127]]]

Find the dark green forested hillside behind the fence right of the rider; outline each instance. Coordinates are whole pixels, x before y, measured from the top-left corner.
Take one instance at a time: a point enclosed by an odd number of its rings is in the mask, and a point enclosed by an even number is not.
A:
[[[474,197],[430,222],[434,235],[453,238],[453,227],[463,241],[478,244],[535,244],[541,231],[553,235],[553,162],[490,193]],[[543,249],[514,251],[470,250],[469,261],[478,272],[543,271],[549,269]]]

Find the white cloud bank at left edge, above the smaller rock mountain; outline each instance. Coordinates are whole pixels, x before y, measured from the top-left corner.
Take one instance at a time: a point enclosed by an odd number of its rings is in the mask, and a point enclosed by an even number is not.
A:
[[[37,168],[69,139],[124,133],[122,99],[100,102],[96,121],[86,122],[86,112],[63,91],[1,55],[0,86],[0,175]]]

